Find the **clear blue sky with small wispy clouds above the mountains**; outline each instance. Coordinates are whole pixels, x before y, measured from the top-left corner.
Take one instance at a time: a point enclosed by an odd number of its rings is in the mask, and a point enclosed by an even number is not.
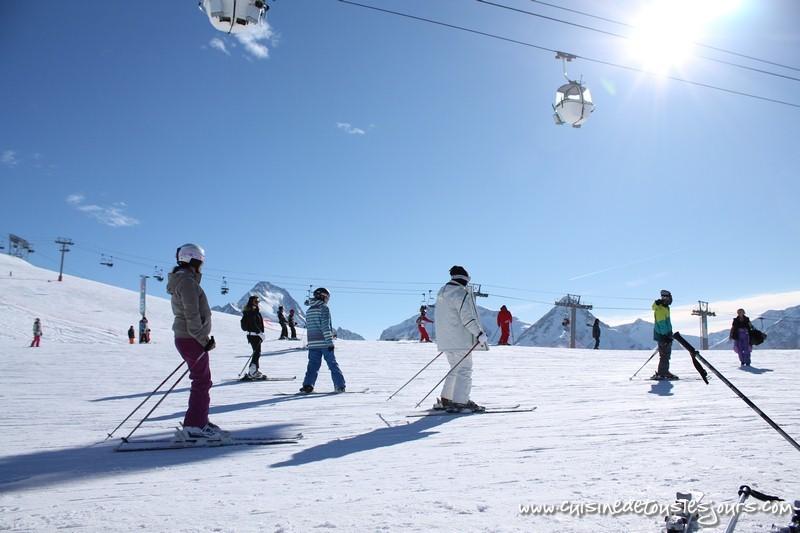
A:
[[[627,41],[469,0],[372,4],[638,65]],[[646,4],[563,2],[624,21]],[[192,0],[0,12],[0,233],[33,241],[35,264],[57,267],[63,235],[68,272],[136,289],[195,241],[212,303],[258,279],[297,299],[326,285],[336,324],[368,337],[453,264],[527,321],[568,291],[604,321],[647,316],[661,288],[721,314],[800,304],[800,109],[578,61],[597,109],[556,127],[552,54],[332,0],[275,3],[249,50]],[[702,41],[798,66],[799,18],[742,0]],[[672,73],[800,102],[792,80],[699,59]]]

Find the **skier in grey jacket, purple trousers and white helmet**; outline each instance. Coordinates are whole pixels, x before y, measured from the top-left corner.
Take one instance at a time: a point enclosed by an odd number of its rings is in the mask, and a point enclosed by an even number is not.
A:
[[[172,313],[175,321],[175,347],[189,367],[192,387],[189,393],[189,408],[183,419],[183,430],[178,436],[183,439],[220,440],[227,436],[219,426],[208,419],[211,402],[211,367],[208,352],[216,347],[211,335],[211,309],[208,299],[200,287],[200,269],[205,262],[205,251],[196,244],[184,244],[178,248],[178,261],[167,281],[167,292],[172,296]]]

